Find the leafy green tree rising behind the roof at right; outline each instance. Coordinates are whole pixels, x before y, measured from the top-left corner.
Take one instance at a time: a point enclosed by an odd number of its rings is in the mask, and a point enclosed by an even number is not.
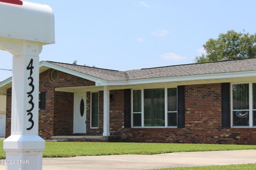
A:
[[[195,63],[238,60],[256,57],[256,33],[229,30],[220,33],[217,39],[209,39],[203,45],[206,54],[196,56]]]

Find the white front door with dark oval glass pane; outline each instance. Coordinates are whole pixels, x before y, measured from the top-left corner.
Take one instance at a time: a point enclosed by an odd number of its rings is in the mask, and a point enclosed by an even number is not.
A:
[[[74,133],[86,133],[86,94],[74,94]]]

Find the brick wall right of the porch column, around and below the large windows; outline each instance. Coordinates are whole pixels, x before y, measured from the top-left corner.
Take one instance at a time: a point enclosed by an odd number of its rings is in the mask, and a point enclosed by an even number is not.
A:
[[[126,137],[113,138],[114,141],[256,144],[256,129],[221,128],[221,83],[185,86],[185,128],[182,129],[123,129],[124,91],[113,92],[110,134]]]

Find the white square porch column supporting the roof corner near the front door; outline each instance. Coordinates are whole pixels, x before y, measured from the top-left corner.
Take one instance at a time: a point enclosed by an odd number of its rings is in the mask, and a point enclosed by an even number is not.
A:
[[[109,87],[103,87],[103,136],[108,137],[109,133]]]

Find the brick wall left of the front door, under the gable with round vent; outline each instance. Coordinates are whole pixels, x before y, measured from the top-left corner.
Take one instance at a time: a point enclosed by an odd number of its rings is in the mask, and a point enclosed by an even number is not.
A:
[[[57,81],[50,78],[52,69],[39,75],[39,91],[46,92],[45,109],[39,111],[39,135],[51,139],[53,135],[73,133],[74,96],[69,92],[55,91],[59,87],[95,86],[93,81],[58,71]],[[11,89],[6,95],[6,137],[11,131]]]

